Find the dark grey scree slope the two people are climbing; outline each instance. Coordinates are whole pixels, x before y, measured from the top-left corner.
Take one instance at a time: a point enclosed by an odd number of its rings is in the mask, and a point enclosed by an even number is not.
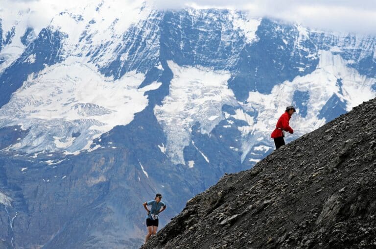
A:
[[[143,248],[376,247],[376,99],[225,174]]]

